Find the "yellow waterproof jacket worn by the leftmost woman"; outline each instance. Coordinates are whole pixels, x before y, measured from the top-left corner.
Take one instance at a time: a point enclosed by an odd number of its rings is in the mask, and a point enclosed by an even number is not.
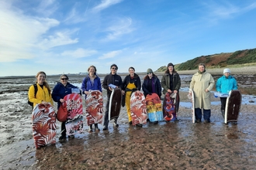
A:
[[[29,101],[33,103],[33,107],[35,107],[36,104],[40,104],[42,101],[50,102],[50,104],[54,106],[54,101],[47,87],[43,86],[43,89],[42,89],[38,83],[36,83],[36,86],[37,86],[36,97],[34,96],[35,88],[33,85],[29,87],[29,94],[28,94]]]

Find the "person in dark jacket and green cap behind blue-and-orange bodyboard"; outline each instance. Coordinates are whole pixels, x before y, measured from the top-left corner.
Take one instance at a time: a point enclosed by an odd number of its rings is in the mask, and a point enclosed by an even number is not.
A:
[[[161,83],[157,76],[153,73],[152,69],[147,69],[147,76],[144,77],[144,82],[142,84],[142,90],[144,91],[144,96],[147,94],[157,93],[159,98],[161,98]]]

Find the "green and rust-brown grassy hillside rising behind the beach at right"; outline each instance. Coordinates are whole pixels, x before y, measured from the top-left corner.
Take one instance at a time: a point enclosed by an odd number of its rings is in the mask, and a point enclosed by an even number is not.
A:
[[[244,49],[234,53],[219,53],[208,56],[198,56],[185,63],[175,65],[175,70],[195,70],[199,63],[204,63],[207,68],[256,66],[256,49]],[[161,66],[157,71],[163,72],[167,66]]]

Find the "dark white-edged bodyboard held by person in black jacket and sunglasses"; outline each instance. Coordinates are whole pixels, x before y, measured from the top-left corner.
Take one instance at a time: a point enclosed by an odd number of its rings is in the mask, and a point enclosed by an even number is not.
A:
[[[109,98],[109,121],[119,117],[121,110],[122,93],[119,88],[112,89]]]

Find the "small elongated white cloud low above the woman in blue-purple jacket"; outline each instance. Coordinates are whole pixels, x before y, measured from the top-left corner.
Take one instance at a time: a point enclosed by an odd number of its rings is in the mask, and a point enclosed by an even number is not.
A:
[[[74,51],[65,51],[64,53],[61,53],[61,56],[71,56],[74,58],[82,58],[82,57],[92,56],[95,53],[97,53],[96,50],[79,48]]]

